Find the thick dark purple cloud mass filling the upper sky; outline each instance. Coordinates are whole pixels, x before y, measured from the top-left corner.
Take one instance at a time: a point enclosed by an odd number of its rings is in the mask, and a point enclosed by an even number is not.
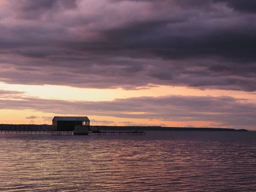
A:
[[[0,2],[0,81],[256,91],[255,0]]]

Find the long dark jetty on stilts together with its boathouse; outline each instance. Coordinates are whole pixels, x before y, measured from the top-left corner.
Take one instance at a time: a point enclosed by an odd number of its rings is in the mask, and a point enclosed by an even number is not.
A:
[[[9,121],[10,122],[10,121]],[[13,123],[12,123],[13,122]],[[0,134],[35,134],[35,135],[145,135],[144,131],[136,129],[109,130],[104,127],[91,126],[90,119],[87,116],[54,116],[52,125],[35,125],[33,121],[30,124],[0,124]],[[26,122],[25,122],[26,123]]]

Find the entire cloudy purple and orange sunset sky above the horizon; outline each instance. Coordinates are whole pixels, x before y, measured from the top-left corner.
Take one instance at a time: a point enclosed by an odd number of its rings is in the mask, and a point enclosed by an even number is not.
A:
[[[0,0],[0,123],[256,130],[255,0]]]

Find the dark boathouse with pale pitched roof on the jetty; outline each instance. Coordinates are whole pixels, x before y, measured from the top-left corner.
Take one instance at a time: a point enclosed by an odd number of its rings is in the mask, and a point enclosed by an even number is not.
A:
[[[52,131],[74,131],[75,126],[90,126],[87,116],[55,116],[52,119]]]

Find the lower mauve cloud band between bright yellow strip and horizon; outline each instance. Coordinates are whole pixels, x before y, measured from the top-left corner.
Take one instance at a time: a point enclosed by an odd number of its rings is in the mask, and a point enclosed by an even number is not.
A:
[[[4,102],[3,102],[4,101]],[[230,96],[161,96],[87,102],[39,99],[0,99],[0,109],[33,110],[59,115],[112,116],[178,122],[215,122],[219,127],[253,128],[256,105]],[[112,123],[112,121],[97,121]],[[133,125],[132,122],[122,122]]]

